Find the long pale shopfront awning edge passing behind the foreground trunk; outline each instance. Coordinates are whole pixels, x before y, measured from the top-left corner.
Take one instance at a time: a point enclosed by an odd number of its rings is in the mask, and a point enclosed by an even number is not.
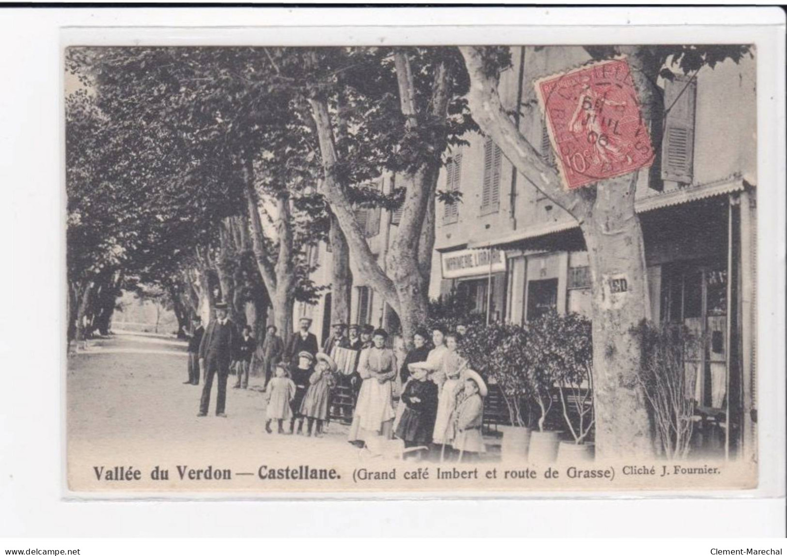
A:
[[[682,205],[687,202],[700,201],[718,195],[727,195],[734,191],[743,191],[744,187],[744,180],[741,178],[741,175],[734,174],[733,176],[728,176],[713,183],[700,183],[699,185],[682,187],[673,191],[665,191],[663,193],[638,199],[635,209],[637,213],[646,213],[668,206]],[[528,226],[527,228],[515,232],[499,235],[497,238],[493,239],[470,241],[467,243],[467,248],[482,249],[492,246],[501,246],[578,228],[577,221],[567,215],[565,218],[566,220],[564,221],[547,222],[536,226]]]

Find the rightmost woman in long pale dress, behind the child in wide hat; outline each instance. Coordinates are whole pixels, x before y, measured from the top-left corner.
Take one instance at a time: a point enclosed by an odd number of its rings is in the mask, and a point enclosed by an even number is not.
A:
[[[456,334],[445,336],[446,352],[442,358],[442,365],[433,373],[433,380],[440,386],[438,395],[438,413],[434,419],[434,432],[432,442],[444,444],[449,447],[454,437],[454,428],[451,421],[453,411],[456,409],[457,397],[464,391],[464,369],[467,361],[456,353],[459,339]],[[450,449],[450,448],[449,448]]]

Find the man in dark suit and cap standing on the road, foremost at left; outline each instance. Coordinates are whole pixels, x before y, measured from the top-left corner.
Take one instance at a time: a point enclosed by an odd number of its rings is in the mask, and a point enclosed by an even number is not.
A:
[[[227,399],[227,376],[230,374],[230,365],[238,358],[239,343],[235,323],[227,318],[227,304],[216,303],[216,320],[208,324],[199,346],[200,361],[203,365],[208,366],[205,367],[207,371],[205,386],[202,388],[197,417],[205,417],[208,414],[214,375],[218,375],[219,383],[219,392],[216,395],[216,417],[227,417],[227,414],[224,413],[224,402]]]

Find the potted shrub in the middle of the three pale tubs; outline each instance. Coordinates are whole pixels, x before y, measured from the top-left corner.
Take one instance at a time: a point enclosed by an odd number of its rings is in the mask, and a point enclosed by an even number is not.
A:
[[[527,390],[539,410],[538,429],[530,433],[528,461],[536,464],[556,461],[560,442],[560,432],[545,428],[546,418],[552,410],[552,391],[560,376],[560,357],[557,354],[560,340],[554,334],[556,317],[556,314],[548,313],[528,326]]]

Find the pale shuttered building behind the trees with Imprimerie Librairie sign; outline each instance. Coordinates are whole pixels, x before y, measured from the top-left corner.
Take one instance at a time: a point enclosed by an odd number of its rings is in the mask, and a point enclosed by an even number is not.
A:
[[[589,61],[582,47],[512,48],[501,99],[520,106],[519,128],[553,161],[534,81]],[[755,61],[724,61],[692,76],[659,80],[666,117],[652,169],[639,173],[636,209],[645,236],[650,313],[708,338],[689,361],[696,376],[697,434],[725,454],[756,454],[756,92]],[[430,296],[462,295],[488,321],[525,324],[547,310],[590,315],[588,254],[573,217],[517,172],[490,139],[467,137],[443,169]],[[390,177],[379,181],[383,191]],[[397,215],[361,210],[384,265]],[[318,284],[330,282],[326,247],[315,251]],[[397,318],[354,273],[351,322]],[[330,298],[296,307],[327,336]]]

